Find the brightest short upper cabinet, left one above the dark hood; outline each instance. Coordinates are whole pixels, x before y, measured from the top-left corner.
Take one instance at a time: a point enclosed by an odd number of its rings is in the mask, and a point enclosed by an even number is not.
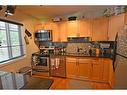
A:
[[[67,21],[67,37],[77,37],[78,35],[78,21]]]

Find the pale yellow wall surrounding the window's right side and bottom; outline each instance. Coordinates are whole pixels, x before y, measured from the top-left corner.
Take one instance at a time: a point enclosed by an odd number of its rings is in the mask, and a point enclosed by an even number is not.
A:
[[[23,23],[24,27],[29,32],[32,33],[32,39],[28,38],[29,44],[26,45],[26,55],[21,59],[17,59],[15,61],[8,62],[4,65],[1,65],[0,66],[0,71],[17,72],[19,70],[19,68],[22,68],[24,66],[30,66],[31,65],[31,55],[32,55],[32,53],[38,51],[38,48],[34,43],[34,37],[33,37],[34,25],[36,24],[36,21],[28,19],[28,20],[22,21],[21,23]],[[25,31],[23,31],[23,32],[25,32]],[[25,33],[23,33],[23,34],[25,36]]]

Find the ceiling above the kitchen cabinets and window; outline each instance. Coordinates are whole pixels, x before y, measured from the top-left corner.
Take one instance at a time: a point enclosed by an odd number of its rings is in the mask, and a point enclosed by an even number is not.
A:
[[[4,6],[5,7],[5,6]],[[67,18],[68,16],[101,16],[102,12],[112,6],[86,6],[86,5],[17,5],[15,14],[8,18],[23,21],[26,19],[35,19],[38,21],[49,20],[54,17]],[[5,8],[0,11],[0,17],[4,17]]]

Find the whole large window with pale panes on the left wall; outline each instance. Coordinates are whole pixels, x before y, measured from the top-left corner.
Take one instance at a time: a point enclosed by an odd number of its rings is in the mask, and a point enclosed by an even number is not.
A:
[[[23,55],[21,26],[0,21],[0,63]]]

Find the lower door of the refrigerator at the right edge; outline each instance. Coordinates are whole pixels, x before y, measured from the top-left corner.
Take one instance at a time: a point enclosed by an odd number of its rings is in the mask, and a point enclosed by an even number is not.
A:
[[[127,59],[119,55],[115,61],[114,89],[127,89]]]

